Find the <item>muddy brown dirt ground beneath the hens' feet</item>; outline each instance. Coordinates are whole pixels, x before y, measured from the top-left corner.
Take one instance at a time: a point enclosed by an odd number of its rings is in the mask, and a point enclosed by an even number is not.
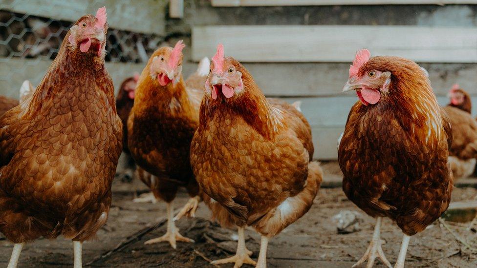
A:
[[[338,179],[336,164],[325,164],[325,186],[315,199],[310,211],[270,240],[269,267],[351,267],[365,252],[373,232],[374,220],[347,200]],[[472,179],[476,180],[477,179]],[[337,187],[338,186],[338,187]],[[113,204],[108,223],[97,234],[95,241],[83,246],[83,264],[86,267],[214,267],[210,260],[231,256],[237,247],[236,230],[228,230],[208,221],[209,210],[204,204],[195,219],[177,222],[180,232],[195,243],[178,242],[177,249],[167,243],[144,245],[166,230],[166,205],[163,202],[133,203],[137,193],[146,189],[139,182],[120,183],[113,187]],[[458,187],[453,202],[472,202],[477,197],[474,187]],[[188,196],[180,193],[174,201],[180,208]],[[333,216],[342,210],[360,213],[360,230],[338,234]],[[475,213],[474,211],[470,212]],[[468,215],[467,215],[468,216]],[[471,215],[473,217],[473,214]],[[472,218],[471,217],[471,218]],[[465,217],[454,218],[462,220]],[[469,217],[467,217],[469,218]],[[475,230],[467,230],[469,223],[447,221],[454,235],[477,247]],[[246,245],[256,259],[260,236],[247,229]],[[383,221],[383,250],[391,263],[396,261],[402,232],[389,219]],[[469,249],[458,242],[449,230],[438,222],[412,237],[406,267],[477,267],[477,248]],[[12,244],[0,238],[0,267],[10,258]],[[71,267],[73,252],[71,241],[40,239],[27,244],[20,257],[19,267]],[[233,267],[224,265],[222,267]],[[244,266],[247,267],[247,266]],[[250,266],[248,266],[250,267]],[[379,261],[375,267],[384,267]]]

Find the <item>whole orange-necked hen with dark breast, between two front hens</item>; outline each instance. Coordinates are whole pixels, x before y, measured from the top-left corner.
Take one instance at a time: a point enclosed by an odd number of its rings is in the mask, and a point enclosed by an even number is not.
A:
[[[139,176],[155,198],[167,203],[168,225],[164,236],[146,244],[168,241],[193,242],[180,235],[174,225],[173,205],[178,187],[191,196],[177,214],[194,216],[200,201],[199,188],[190,165],[191,140],[199,122],[203,90],[187,88],[182,78],[182,41],[174,48],[161,47],[151,56],[136,87],[128,120],[128,144],[139,167],[152,176]],[[208,69],[208,66],[205,68]]]

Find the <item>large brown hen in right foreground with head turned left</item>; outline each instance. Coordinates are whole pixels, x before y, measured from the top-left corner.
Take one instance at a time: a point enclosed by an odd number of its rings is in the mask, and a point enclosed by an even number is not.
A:
[[[347,198],[376,217],[368,250],[354,266],[379,256],[382,217],[404,233],[395,267],[403,268],[410,237],[447,209],[453,188],[447,165],[451,124],[431,83],[415,63],[398,57],[356,54],[343,91],[356,90],[338,149]]]

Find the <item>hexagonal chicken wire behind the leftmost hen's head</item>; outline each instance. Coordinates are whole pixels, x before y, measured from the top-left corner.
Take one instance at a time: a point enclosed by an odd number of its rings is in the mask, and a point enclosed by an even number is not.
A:
[[[74,21],[80,17],[74,18]],[[18,88],[7,88],[12,86],[12,78],[29,80],[33,85],[41,82],[74,21],[0,9],[0,94],[18,98],[21,82],[13,83]],[[106,62],[132,64],[147,62],[163,38],[155,34],[109,28],[107,40]],[[113,78],[115,75],[118,79],[132,75],[132,70],[122,68],[124,70],[128,73],[115,74],[114,69],[108,69]]]

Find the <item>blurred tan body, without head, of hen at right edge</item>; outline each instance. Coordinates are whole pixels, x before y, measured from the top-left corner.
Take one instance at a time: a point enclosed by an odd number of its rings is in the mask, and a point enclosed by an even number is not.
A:
[[[449,164],[455,178],[473,174],[477,157],[477,121],[470,113],[455,106],[446,106],[452,125],[452,146],[449,149]]]

